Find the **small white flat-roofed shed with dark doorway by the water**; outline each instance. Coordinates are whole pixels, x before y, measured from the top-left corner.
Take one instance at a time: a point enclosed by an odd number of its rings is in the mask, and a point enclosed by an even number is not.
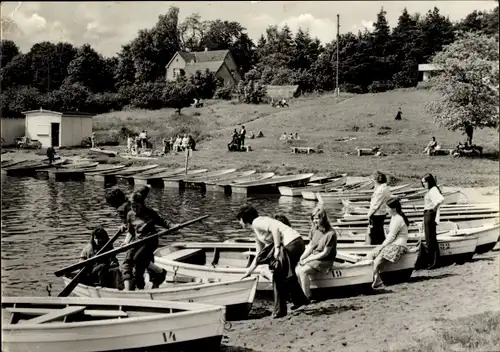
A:
[[[43,148],[79,146],[92,135],[93,114],[73,111],[32,110],[26,116],[26,136],[38,139]]]

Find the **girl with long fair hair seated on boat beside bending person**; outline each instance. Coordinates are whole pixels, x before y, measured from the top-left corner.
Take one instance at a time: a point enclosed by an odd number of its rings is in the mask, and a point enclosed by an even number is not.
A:
[[[311,280],[309,275],[326,273],[333,266],[337,255],[337,233],[330,225],[322,206],[314,208],[311,215],[312,228],[310,241],[300,257],[295,269],[302,291],[311,299]]]

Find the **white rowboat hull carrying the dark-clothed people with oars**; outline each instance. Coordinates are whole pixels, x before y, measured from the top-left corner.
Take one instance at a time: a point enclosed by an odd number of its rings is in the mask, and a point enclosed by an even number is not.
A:
[[[70,278],[64,278],[66,285],[70,281]],[[170,284],[170,286],[164,283],[159,288],[136,291],[120,291],[79,284],[73,293],[80,297],[92,298],[122,298],[134,301],[151,299],[213,304],[226,307],[227,320],[238,320],[248,317],[256,291],[257,278],[253,277],[212,283]]]

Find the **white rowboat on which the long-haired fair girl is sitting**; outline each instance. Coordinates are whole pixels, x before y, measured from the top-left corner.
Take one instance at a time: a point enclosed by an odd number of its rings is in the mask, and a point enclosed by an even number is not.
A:
[[[155,252],[155,264],[176,272],[181,280],[237,280],[245,273],[254,255],[255,245],[252,243],[174,243]],[[254,273],[259,275],[258,291],[272,290],[267,265],[258,266]],[[335,263],[327,274],[314,275],[311,281],[313,291],[336,288],[337,292],[339,289],[345,292],[370,288],[372,261]]]

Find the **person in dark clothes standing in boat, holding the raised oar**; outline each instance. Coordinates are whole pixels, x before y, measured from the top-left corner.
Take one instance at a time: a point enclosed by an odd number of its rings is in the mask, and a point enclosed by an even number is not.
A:
[[[169,229],[175,224],[163,219],[155,210],[144,204],[143,195],[134,192],[130,195],[131,210],[127,214],[127,229],[131,237],[139,240],[155,234],[155,226]],[[131,248],[123,262],[123,279],[126,290],[133,290],[131,280],[135,278],[135,286],[143,289],[144,271],[154,260],[154,251],[158,248],[158,237],[148,240],[139,248]],[[135,268],[135,274],[133,269]],[[163,279],[164,280],[164,279]]]

